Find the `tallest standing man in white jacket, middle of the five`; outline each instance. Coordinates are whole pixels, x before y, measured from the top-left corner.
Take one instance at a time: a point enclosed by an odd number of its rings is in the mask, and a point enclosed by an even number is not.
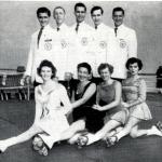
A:
[[[76,3],[75,16],[76,23],[70,28],[70,56],[69,65],[76,77],[77,65],[82,62],[91,64],[91,50],[90,45],[93,40],[93,28],[87,25],[84,19],[86,15],[86,6],[83,3]],[[73,71],[75,70],[75,71]]]

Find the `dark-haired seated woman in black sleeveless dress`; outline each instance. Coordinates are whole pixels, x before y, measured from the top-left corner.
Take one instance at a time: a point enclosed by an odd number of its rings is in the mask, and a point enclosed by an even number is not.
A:
[[[99,130],[100,123],[96,120],[87,121],[86,116],[91,113],[91,108],[95,104],[96,100],[96,84],[91,82],[89,79],[91,78],[91,66],[87,63],[81,63],[78,65],[78,79],[79,82],[73,87],[72,92],[72,116],[73,123],[69,129],[64,131],[59,136],[59,140],[70,139],[76,135],[76,133],[80,131],[84,131],[86,129],[91,129],[90,131],[94,132]],[[96,111],[96,110],[94,110]],[[90,126],[91,125],[91,126]],[[55,136],[46,137],[44,134],[39,134],[39,136],[43,139],[43,141],[49,146],[52,146],[55,140]],[[70,139],[70,143],[75,143],[76,140]],[[42,140],[37,136],[33,139],[33,148],[40,150],[40,146],[42,146]],[[44,149],[42,152],[46,152]]]

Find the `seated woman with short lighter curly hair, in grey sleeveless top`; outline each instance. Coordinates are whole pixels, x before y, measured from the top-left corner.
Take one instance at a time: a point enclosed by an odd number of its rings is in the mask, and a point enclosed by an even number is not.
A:
[[[104,121],[105,116],[108,117],[109,120],[105,125],[103,124],[100,130],[95,134],[89,133],[86,136],[80,136],[80,145],[90,145],[104,138],[107,134],[113,134],[114,130],[123,125],[127,119],[126,109],[121,107],[121,83],[111,79],[112,72],[113,67],[111,65],[99,65],[98,73],[103,82],[97,86],[96,105],[93,106],[93,109],[98,111],[98,116],[103,114],[99,119],[100,121]],[[89,118],[91,119],[91,116]]]

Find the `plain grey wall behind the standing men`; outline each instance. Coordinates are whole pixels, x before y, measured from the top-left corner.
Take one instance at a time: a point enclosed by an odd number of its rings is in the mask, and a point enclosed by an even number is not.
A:
[[[76,1],[78,2],[78,1]],[[75,1],[1,1],[0,2],[0,68],[16,69],[26,66],[30,36],[39,28],[36,11],[48,6],[51,11],[57,5],[65,8],[66,23],[75,23]],[[162,65],[162,2],[150,1],[87,1],[86,22],[92,19],[90,10],[93,5],[103,6],[104,22],[112,27],[111,12],[114,6],[125,10],[125,25],[134,28],[138,39],[138,57],[144,62],[146,73],[154,73]],[[55,26],[53,17],[51,25]]]

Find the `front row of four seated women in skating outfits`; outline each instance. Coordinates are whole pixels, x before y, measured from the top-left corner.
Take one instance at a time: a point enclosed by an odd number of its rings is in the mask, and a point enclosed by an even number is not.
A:
[[[129,134],[133,138],[162,136],[161,125],[152,125],[149,130],[138,129],[141,121],[152,119],[146,104],[146,83],[138,76],[143,63],[132,57],[125,66],[129,76],[121,84],[111,78],[113,67],[108,63],[100,64],[98,73],[103,81],[96,86],[90,80],[91,66],[80,63],[77,67],[79,81],[70,103],[64,85],[54,79],[54,65],[50,60],[42,60],[38,75],[43,83],[35,89],[33,124],[18,136],[0,140],[1,152],[32,137],[33,149],[48,156],[49,149],[60,140],[82,147],[104,139],[110,147]],[[69,113],[73,117],[71,124],[67,120]]]

